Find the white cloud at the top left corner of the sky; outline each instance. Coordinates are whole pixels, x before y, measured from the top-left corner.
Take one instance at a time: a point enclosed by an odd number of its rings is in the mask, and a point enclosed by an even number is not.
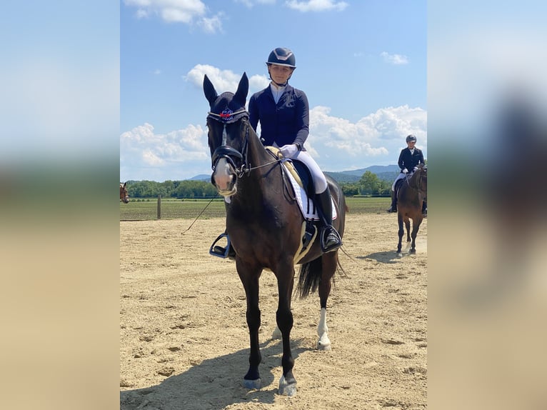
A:
[[[168,23],[195,22],[206,33],[222,31],[222,14],[206,16],[207,7],[201,0],[124,0],[124,4],[136,8],[137,19],[159,16]]]

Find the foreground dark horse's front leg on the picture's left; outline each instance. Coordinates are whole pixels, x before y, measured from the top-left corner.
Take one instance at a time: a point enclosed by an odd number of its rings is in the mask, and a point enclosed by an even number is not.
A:
[[[238,263],[238,274],[245,289],[247,300],[247,326],[249,326],[249,339],[251,352],[249,354],[249,371],[244,376],[243,384],[247,389],[260,389],[261,380],[259,364],[262,360],[259,347],[259,328],[261,324],[259,309],[259,279],[261,270],[252,271],[244,269]]]

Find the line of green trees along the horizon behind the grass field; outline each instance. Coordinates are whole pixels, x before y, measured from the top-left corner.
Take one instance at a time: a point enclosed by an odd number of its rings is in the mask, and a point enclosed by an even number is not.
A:
[[[395,176],[393,176],[395,179]],[[126,181],[130,198],[212,198],[216,188],[209,181]],[[340,183],[346,196],[389,196],[393,181],[379,179],[376,174],[366,171],[361,179],[355,182]]]

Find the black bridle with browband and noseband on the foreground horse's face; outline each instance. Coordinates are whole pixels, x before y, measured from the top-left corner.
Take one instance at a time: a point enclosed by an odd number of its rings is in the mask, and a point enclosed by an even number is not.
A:
[[[249,164],[247,162],[247,151],[249,149],[249,122],[246,121],[249,119],[249,113],[246,109],[239,109],[236,112],[225,110],[222,111],[221,114],[215,114],[214,112],[209,112],[207,114],[209,114],[207,116],[208,119],[214,119],[215,121],[224,124],[222,130],[222,143],[214,150],[213,155],[211,156],[211,169],[213,169],[214,172],[220,159],[224,158],[234,168],[238,178],[241,178],[246,172],[249,172]],[[236,121],[246,122],[243,153],[227,144],[228,133],[226,133],[226,124],[232,124]]]

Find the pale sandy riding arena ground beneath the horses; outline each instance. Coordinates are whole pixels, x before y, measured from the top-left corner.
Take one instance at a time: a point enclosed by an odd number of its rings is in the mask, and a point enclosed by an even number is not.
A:
[[[399,258],[396,215],[348,215],[346,275],[328,301],[331,351],[315,349],[317,294],[293,299],[290,398],[277,394],[273,274],[261,276],[263,387],[248,391],[244,290],[235,263],[208,253],[224,219],[190,224],[120,222],[121,410],[426,409],[427,219],[417,254]]]

